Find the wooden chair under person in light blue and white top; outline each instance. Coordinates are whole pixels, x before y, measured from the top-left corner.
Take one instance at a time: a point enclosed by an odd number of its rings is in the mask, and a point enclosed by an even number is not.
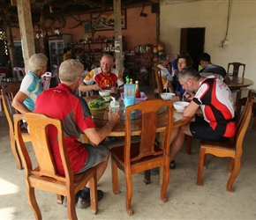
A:
[[[17,111],[13,111],[11,107],[11,101],[13,99],[13,95],[15,95],[19,91],[19,88],[15,86],[15,84],[9,84],[7,87],[4,87],[1,90],[3,106],[4,106],[4,114],[7,118],[9,124],[9,134],[10,134],[10,141],[11,141],[11,151],[14,158],[17,161],[17,169],[22,169],[22,162],[19,157],[19,151],[17,149],[17,145],[15,142],[15,132],[13,127],[13,118],[12,115],[18,113]],[[9,100],[8,100],[9,99]],[[30,136],[27,133],[26,128],[21,128],[21,136],[24,139],[24,142],[30,142]]]

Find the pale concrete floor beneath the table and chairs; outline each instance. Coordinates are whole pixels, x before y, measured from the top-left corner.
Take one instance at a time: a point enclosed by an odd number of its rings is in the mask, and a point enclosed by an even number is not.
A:
[[[252,119],[254,120],[254,119]],[[251,121],[252,124],[252,121]],[[24,171],[16,169],[11,153],[8,124],[3,112],[0,113],[0,219],[34,219],[26,202]],[[176,158],[177,169],[170,171],[168,202],[160,200],[160,185],[157,176],[145,185],[143,175],[133,175],[133,216],[125,210],[124,173],[119,172],[121,194],[113,194],[111,189],[110,164],[98,187],[104,197],[99,202],[96,216],[90,209],[77,209],[79,219],[255,219],[256,218],[256,148],[252,126],[247,130],[244,142],[242,168],[234,183],[234,193],[226,191],[229,172],[228,158],[207,157],[203,187],[196,185],[199,160],[199,141],[192,141],[192,154],[186,155],[182,149]],[[112,147],[122,143],[119,139],[108,142]],[[31,146],[27,144],[31,150]],[[67,219],[66,209],[56,204],[56,195],[36,190],[36,197],[43,219]]]

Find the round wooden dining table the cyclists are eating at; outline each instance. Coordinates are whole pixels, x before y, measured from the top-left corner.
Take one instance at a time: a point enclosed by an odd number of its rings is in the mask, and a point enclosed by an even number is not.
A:
[[[84,97],[84,99],[87,101],[87,103],[93,99],[97,99],[99,96],[88,96]],[[147,95],[147,99],[155,99],[154,95]],[[120,102],[120,109],[122,111],[121,120],[117,123],[117,125],[112,129],[112,131],[109,133],[108,136],[125,136],[125,119],[124,119],[124,102],[122,99],[119,99]],[[94,123],[96,125],[97,129],[102,128],[107,122],[108,122],[108,109],[103,108],[98,111],[92,111],[91,113],[93,115]],[[190,117],[184,117],[182,112],[177,112],[176,109],[173,109],[173,128],[179,128],[182,125],[188,123],[191,118]],[[160,147],[162,147],[164,135],[165,135],[165,126],[167,121],[167,111],[166,109],[160,109],[158,114],[158,120],[157,120],[157,128],[156,132],[159,133],[159,144]],[[135,118],[132,120],[132,136],[140,136],[141,134],[141,120],[138,115],[135,115]],[[85,134],[82,134],[82,141],[84,143],[88,143],[87,136]],[[159,181],[162,183],[162,174],[163,169],[160,167],[159,171]],[[147,181],[147,180],[146,180]],[[150,181],[150,180],[149,180]]]

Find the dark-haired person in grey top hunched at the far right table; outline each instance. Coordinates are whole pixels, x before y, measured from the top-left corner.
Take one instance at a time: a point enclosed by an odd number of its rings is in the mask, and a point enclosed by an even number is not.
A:
[[[200,55],[200,65],[202,70],[200,70],[200,75],[203,77],[210,77],[211,73],[214,77],[218,77],[220,80],[224,81],[226,84],[230,84],[230,77],[227,72],[221,66],[215,65],[211,62],[211,56],[207,53]],[[221,75],[221,76],[219,76]]]

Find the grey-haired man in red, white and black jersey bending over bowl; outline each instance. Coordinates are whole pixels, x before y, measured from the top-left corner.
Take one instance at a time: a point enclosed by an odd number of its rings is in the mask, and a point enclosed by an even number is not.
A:
[[[184,137],[193,136],[209,141],[225,141],[236,134],[236,117],[232,94],[227,84],[216,77],[201,77],[190,67],[178,73],[178,80],[185,91],[195,92],[184,116],[192,121],[173,129],[170,161],[182,148]]]

